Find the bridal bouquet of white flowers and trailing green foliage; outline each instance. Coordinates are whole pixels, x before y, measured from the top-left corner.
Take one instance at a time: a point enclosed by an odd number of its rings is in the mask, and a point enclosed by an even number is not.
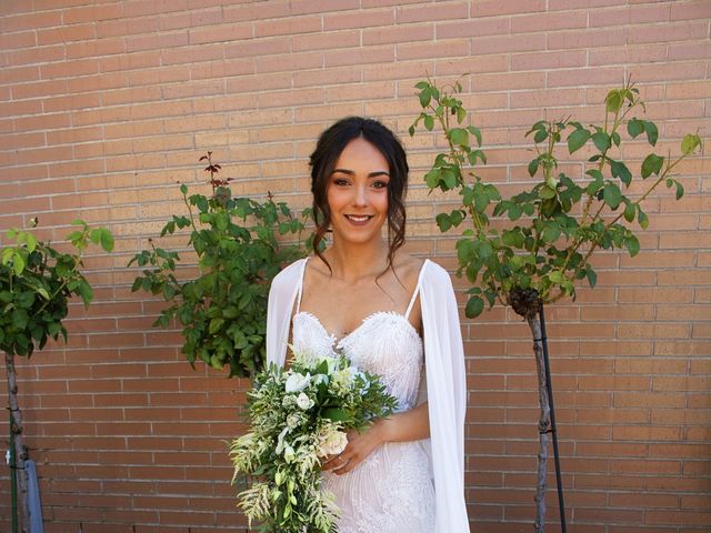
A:
[[[333,494],[321,486],[321,460],[348,444],[348,430],[397,409],[377,375],[358,371],[338,352],[293,353],[288,370],[271,364],[248,393],[249,433],[230,445],[234,476],[248,477],[238,505],[260,531],[337,531]]]

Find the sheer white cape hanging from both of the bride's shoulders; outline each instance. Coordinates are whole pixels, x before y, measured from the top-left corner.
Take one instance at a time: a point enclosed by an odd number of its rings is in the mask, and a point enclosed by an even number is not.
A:
[[[269,292],[267,361],[284,364],[293,305],[306,260],[282,270]],[[430,464],[435,492],[433,533],[469,532],[464,502],[464,415],[467,378],[457,300],[449,273],[424,262],[418,286],[422,308]]]

